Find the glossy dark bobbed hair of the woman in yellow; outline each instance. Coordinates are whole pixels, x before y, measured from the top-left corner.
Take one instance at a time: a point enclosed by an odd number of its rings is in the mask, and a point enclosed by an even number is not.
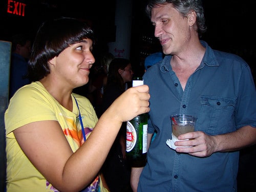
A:
[[[84,39],[91,39],[95,43],[92,29],[81,20],[61,17],[42,23],[29,59],[30,80],[37,81],[47,76],[50,73],[48,61]]]

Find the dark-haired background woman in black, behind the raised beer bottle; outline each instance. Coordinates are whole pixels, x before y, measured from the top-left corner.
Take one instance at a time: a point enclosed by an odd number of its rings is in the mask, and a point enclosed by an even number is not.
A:
[[[114,58],[110,62],[108,80],[103,94],[103,111],[108,109],[114,100],[127,89],[126,84],[132,81],[133,74],[130,60]],[[126,122],[122,123],[102,169],[106,183],[113,192],[131,191],[131,166],[126,162],[125,151]]]

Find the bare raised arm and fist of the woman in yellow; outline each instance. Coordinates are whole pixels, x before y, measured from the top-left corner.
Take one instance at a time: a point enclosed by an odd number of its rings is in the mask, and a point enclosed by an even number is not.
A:
[[[45,178],[60,191],[79,191],[98,174],[121,123],[147,113],[147,86],[130,88],[102,114],[87,141],[73,153],[57,121],[37,121],[19,127],[20,147]]]

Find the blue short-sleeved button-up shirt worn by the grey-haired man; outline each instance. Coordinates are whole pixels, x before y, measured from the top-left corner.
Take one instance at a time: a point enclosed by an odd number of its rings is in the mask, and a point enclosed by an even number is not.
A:
[[[172,139],[170,116],[197,116],[195,131],[208,135],[256,127],[256,92],[247,63],[237,55],[206,52],[183,91],[170,66],[172,56],[148,69],[144,84],[150,87],[148,133],[157,131],[147,153],[138,191],[237,191],[239,152],[217,152],[209,157],[176,153],[166,145]]]

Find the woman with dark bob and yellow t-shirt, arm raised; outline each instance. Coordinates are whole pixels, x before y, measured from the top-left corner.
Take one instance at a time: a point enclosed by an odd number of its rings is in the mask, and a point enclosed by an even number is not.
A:
[[[29,60],[33,82],[5,113],[7,191],[108,191],[99,170],[122,122],[149,111],[150,95],[147,86],[131,88],[98,120],[89,100],[72,93],[89,80],[93,44],[79,20],[40,26]]]

